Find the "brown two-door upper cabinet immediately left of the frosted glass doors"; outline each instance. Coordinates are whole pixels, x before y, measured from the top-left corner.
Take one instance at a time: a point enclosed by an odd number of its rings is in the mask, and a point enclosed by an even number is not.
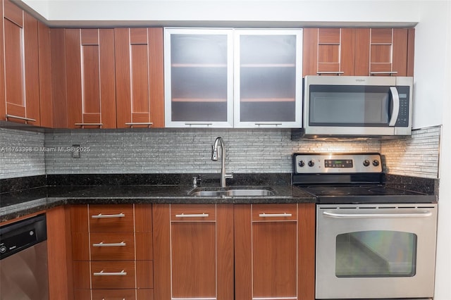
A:
[[[163,28],[51,29],[54,127],[164,127]]]

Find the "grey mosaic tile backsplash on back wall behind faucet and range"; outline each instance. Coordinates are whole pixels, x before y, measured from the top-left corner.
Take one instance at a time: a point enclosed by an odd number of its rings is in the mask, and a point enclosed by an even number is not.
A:
[[[380,149],[379,142],[292,142],[290,130],[73,130],[46,135],[46,146],[80,144],[89,152],[49,152],[47,173],[219,173],[221,160],[211,161],[216,137],[226,145],[229,173],[291,173],[296,151]]]

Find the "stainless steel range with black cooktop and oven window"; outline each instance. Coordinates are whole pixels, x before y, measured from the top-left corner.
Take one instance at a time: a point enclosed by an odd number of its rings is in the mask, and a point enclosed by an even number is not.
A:
[[[316,299],[431,299],[436,196],[383,185],[380,154],[294,154],[316,196]]]

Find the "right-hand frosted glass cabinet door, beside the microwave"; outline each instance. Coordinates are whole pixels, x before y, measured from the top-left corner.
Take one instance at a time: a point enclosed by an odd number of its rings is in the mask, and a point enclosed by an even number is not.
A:
[[[235,127],[301,127],[302,30],[235,30]]]

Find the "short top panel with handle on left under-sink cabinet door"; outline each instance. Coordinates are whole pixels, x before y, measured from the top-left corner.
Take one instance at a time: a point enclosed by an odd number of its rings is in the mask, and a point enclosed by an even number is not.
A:
[[[214,221],[215,204],[171,204],[171,221]]]

